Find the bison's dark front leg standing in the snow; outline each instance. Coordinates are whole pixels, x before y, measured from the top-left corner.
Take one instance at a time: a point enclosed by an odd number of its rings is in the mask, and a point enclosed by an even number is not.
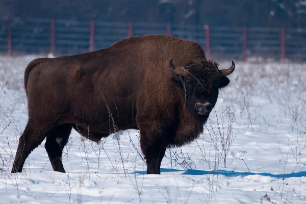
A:
[[[160,164],[165,154],[164,137],[140,130],[140,146],[147,163],[147,174],[160,174]],[[162,157],[160,157],[162,155]]]

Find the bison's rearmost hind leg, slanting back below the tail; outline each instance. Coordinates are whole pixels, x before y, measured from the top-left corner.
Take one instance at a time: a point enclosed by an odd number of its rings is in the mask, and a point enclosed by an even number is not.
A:
[[[47,125],[29,123],[25,126],[23,134],[19,138],[18,148],[12,167],[12,173],[21,172],[25,160],[30,153],[41,144],[46,137]]]

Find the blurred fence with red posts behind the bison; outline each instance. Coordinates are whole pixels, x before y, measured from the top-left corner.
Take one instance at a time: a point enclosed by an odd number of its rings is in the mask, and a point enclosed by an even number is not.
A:
[[[0,53],[57,56],[106,48],[120,39],[167,34],[195,40],[214,59],[306,61],[306,29],[214,27],[170,23],[73,21],[10,18],[0,20]]]

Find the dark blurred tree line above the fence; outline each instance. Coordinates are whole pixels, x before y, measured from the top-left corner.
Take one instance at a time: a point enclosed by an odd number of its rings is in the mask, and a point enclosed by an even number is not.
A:
[[[0,17],[306,28],[306,0],[0,0]]]

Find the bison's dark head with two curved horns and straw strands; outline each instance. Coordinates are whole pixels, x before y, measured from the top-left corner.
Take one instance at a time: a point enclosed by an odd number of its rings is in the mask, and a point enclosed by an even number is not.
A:
[[[172,81],[181,87],[186,98],[186,106],[198,117],[207,118],[214,108],[219,89],[230,83],[226,77],[235,69],[235,63],[228,69],[219,70],[213,61],[191,62],[185,67],[176,67],[169,61],[169,67],[175,75]]]

